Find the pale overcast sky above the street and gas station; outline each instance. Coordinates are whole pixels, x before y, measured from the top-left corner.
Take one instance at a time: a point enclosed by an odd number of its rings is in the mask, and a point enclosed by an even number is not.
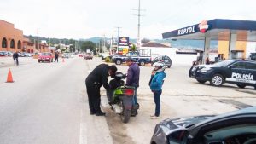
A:
[[[25,35],[57,38],[137,37],[138,0],[0,0],[0,20]],[[255,20],[255,0],[141,0],[141,38],[201,20]]]

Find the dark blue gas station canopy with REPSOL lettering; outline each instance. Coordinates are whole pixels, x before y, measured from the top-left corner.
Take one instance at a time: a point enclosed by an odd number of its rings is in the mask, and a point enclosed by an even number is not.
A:
[[[163,38],[230,41],[230,35],[236,34],[236,41],[256,42],[256,21],[214,19],[201,24],[183,27],[162,34]]]

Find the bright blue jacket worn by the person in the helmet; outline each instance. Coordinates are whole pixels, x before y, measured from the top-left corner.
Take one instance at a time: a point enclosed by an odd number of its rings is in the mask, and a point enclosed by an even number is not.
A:
[[[161,90],[164,83],[164,78],[166,78],[165,72],[156,72],[151,80],[150,89],[151,90]]]

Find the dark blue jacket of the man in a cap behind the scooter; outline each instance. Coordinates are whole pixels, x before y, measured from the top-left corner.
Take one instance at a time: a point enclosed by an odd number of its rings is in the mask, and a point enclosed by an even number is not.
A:
[[[139,87],[139,80],[140,80],[140,67],[137,66],[137,63],[132,63],[129,66],[126,78],[126,84],[128,86]]]

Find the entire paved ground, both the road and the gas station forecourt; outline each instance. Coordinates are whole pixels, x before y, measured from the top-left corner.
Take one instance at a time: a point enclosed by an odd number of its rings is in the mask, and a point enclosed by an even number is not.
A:
[[[65,63],[38,63],[24,59],[20,62],[18,67],[9,64],[0,68],[1,144],[146,144],[154,125],[165,118],[218,114],[256,106],[253,88],[198,84],[188,78],[189,66],[173,66],[166,69],[161,118],[152,120],[149,115],[154,112],[154,99],[148,90],[152,67],[145,66],[141,67],[138,89],[139,115],[122,124],[119,116],[109,109],[104,89],[102,109],[107,116],[89,114],[84,79],[102,60],[73,58]],[[9,66],[15,80],[12,84],[4,83]],[[118,68],[126,72],[128,67]]]

